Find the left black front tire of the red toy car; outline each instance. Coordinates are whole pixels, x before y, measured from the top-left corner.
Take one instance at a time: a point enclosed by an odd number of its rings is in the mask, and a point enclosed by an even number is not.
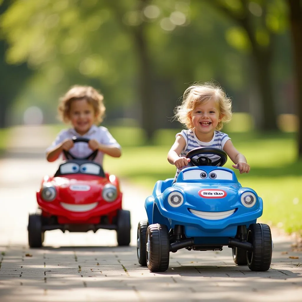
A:
[[[30,247],[41,247],[44,240],[41,215],[29,214],[27,231],[28,245]]]

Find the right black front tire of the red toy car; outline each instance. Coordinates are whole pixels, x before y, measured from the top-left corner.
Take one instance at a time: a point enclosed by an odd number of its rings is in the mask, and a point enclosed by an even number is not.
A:
[[[117,213],[117,244],[128,246],[131,240],[131,219],[130,211],[119,210]]]

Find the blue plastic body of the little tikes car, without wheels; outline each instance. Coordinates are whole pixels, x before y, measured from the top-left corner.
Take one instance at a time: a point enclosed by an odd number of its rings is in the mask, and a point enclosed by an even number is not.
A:
[[[209,175],[217,170],[230,174],[232,179],[211,179]],[[189,171],[196,175],[205,172],[207,178],[184,179]],[[175,225],[184,225],[186,237],[201,237],[195,238],[195,243],[208,242],[209,238],[202,237],[211,237],[211,243],[217,241],[227,244],[229,237],[235,237],[238,225],[244,224],[248,228],[262,215],[262,198],[253,189],[243,188],[230,169],[213,166],[189,167],[179,173],[175,184],[172,185],[172,182],[173,178],[157,181],[152,195],[146,198],[148,221],[150,224],[165,224],[169,230]],[[173,207],[169,204],[168,198],[171,198],[173,192],[183,195],[182,205]],[[242,194],[247,192],[256,197],[252,207],[246,207],[241,202]],[[207,216],[209,213],[214,215]]]

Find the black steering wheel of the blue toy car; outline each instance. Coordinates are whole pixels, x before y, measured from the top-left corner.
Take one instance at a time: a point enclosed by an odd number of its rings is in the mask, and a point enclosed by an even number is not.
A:
[[[212,161],[207,156],[202,156],[203,154],[213,154],[218,155],[220,158],[217,160]],[[199,156],[201,155],[201,156]],[[198,156],[198,159],[193,159],[194,156]],[[193,166],[218,166],[222,167],[227,161],[226,153],[214,147],[199,147],[195,148],[188,152],[186,158],[191,159],[190,162]]]

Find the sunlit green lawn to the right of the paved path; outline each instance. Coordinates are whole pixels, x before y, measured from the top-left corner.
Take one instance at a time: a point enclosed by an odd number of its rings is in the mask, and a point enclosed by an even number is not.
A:
[[[164,135],[164,130],[162,134]],[[172,130],[173,135],[177,131]],[[167,131],[171,140],[171,130]],[[287,232],[302,230],[302,162],[296,161],[296,141],[293,133],[230,133],[235,147],[251,165],[249,174],[235,171],[242,186],[253,188],[263,199],[261,221]],[[172,143],[174,136],[172,136]],[[175,167],[167,161],[171,145],[123,147],[120,159],[105,157],[104,168],[109,172],[143,186],[152,192],[159,179],[174,177]],[[165,144],[164,144],[165,143]],[[171,143],[171,144],[172,144]],[[226,167],[231,168],[228,159]]]

